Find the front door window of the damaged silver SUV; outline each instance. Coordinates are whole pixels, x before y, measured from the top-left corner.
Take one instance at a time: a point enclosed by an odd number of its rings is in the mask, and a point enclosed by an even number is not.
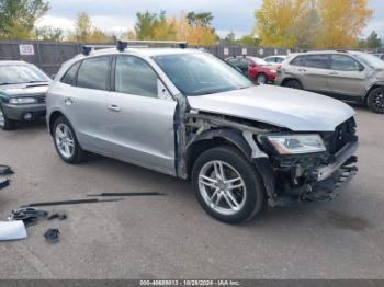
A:
[[[157,74],[140,58],[118,56],[115,70],[115,91],[157,97]]]

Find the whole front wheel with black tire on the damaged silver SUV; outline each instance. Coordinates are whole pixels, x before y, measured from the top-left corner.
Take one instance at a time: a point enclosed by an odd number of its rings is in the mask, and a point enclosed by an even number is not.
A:
[[[216,176],[215,169],[219,170],[221,165],[226,182]],[[260,175],[234,148],[217,147],[200,154],[193,164],[191,177],[197,202],[208,215],[219,221],[240,223],[251,219],[264,206],[266,191]],[[230,180],[236,181],[228,183]],[[228,188],[229,185],[233,187]],[[240,185],[241,187],[236,187]],[[231,196],[228,195],[228,190]],[[235,198],[237,205],[230,198]]]

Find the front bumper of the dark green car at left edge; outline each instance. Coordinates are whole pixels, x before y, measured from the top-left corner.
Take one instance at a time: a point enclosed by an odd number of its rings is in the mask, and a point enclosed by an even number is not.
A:
[[[11,105],[3,104],[3,111],[9,119],[13,120],[25,120],[24,115],[31,113],[32,118],[29,120],[34,120],[36,118],[45,116],[46,105],[45,104],[25,104],[25,105]]]

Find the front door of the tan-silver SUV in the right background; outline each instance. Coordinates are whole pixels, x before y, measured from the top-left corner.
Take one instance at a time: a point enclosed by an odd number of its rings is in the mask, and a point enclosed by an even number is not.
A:
[[[347,55],[331,55],[328,82],[332,93],[345,96],[362,96],[365,87],[364,67]]]

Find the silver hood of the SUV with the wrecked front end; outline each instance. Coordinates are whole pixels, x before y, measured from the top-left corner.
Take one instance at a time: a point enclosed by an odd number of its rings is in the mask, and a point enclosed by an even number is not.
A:
[[[225,114],[294,131],[334,131],[355,112],[320,94],[273,85],[259,85],[201,96],[188,96],[193,110]]]

